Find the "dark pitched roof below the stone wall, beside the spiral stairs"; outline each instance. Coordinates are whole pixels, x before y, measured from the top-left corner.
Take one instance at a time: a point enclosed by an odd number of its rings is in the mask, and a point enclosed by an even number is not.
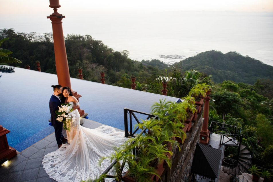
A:
[[[211,179],[218,176],[222,151],[197,143],[193,157],[192,173]]]

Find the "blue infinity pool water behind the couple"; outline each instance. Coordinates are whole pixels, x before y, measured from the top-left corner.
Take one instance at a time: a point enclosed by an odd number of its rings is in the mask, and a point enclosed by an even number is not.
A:
[[[58,79],[57,75],[34,70],[15,68],[14,71],[0,72],[0,125],[10,130],[7,134],[9,145],[21,152],[54,132],[48,125],[48,103],[53,93],[51,85],[58,84]],[[178,100],[75,78],[71,78],[71,86],[82,95],[80,108],[89,114],[89,119],[122,130],[123,108],[150,113],[151,106],[160,98]]]

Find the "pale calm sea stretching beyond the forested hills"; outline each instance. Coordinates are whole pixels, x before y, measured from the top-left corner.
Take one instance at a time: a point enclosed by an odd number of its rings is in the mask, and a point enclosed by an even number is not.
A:
[[[50,9],[48,10],[50,13]],[[174,63],[208,50],[236,51],[273,66],[273,13],[211,11],[66,11],[64,34],[89,34],[138,61]],[[44,13],[44,12],[43,12]],[[50,32],[50,20],[16,17],[1,28]],[[175,55],[175,56],[173,56]]]

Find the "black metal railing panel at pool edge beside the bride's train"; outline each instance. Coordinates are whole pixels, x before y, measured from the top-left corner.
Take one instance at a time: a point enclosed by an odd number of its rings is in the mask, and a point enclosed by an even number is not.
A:
[[[137,111],[137,110],[131,110],[131,109],[127,109],[127,108],[124,108],[123,112],[124,112],[124,132],[125,132],[125,137],[129,137],[129,136],[135,137],[134,134],[139,130],[139,128],[136,128],[133,131],[132,116],[133,116],[133,118],[135,118],[135,120],[137,122],[135,124],[140,123],[139,119],[135,116],[135,113],[148,116],[146,118],[146,120],[148,120],[150,118],[156,117],[153,114],[149,114],[149,113],[146,113],[146,112],[140,112],[140,111]],[[130,124],[129,127],[130,127],[130,131],[128,131],[128,114],[129,114],[129,124]],[[144,132],[144,133],[146,133],[146,132]]]

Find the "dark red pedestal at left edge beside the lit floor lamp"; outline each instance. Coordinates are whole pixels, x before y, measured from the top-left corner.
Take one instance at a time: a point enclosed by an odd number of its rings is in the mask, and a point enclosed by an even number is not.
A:
[[[9,146],[6,134],[10,131],[0,125],[0,159],[11,159],[17,155],[16,150]]]

